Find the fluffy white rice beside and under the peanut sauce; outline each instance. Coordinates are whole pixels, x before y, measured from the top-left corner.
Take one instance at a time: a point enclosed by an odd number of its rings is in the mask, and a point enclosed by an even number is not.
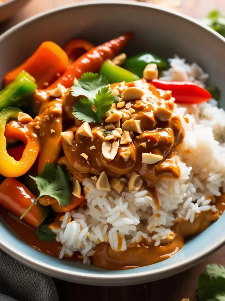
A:
[[[187,64],[177,56],[169,61],[171,68],[164,71],[163,79],[188,80],[205,87],[208,74],[197,64]],[[225,112],[215,104],[211,100],[198,106],[175,106],[185,130],[179,156],[173,159],[181,176],[157,183],[160,209],[146,190],[107,192],[85,179],[87,208],[66,213],[61,230],[54,230],[63,245],[59,258],[79,251],[83,263],[90,264],[89,256],[101,242],[109,243],[115,251],[126,250],[128,244],[142,238],[158,246],[162,240],[173,240],[170,228],[179,218],[193,222],[196,213],[216,211],[214,196],[220,196],[221,187],[225,190]],[[70,217],[73,220],[67,223]]]

